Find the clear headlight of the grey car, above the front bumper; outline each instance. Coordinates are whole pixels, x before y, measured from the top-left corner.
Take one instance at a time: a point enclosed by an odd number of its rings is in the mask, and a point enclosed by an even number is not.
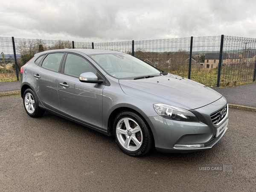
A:
[[[158,115],[166,119],[172,119],[176,121],[199,122],[198,118],[195,116],[194,113],[183,108],[178,108],[165,104],[153,104],[153,107]]]

